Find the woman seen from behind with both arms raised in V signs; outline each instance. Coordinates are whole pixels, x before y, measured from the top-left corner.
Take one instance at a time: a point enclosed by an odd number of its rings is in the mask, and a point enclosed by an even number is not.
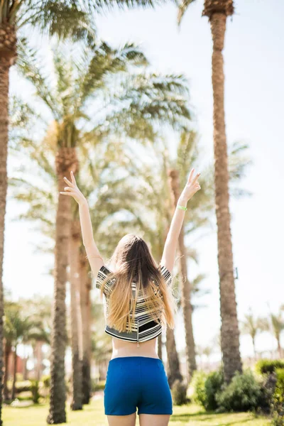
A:
[[[124,236],[111,262],[105,264],[94,242],[87,200],[77,187],[73,173],[62,195],[79,204],[83,244],[96,280],[105,296],[105,332],[112,336],[112,356],[104,389],[104,412],[110,426],[135,426],[136,408],[140,426],[167,426],[173,413],[168,378],[156,352],[162,324],[174,327],[175,300],[171,291],[178,236],[187,202],[200,190],[190,171],[175,209],[160,265],[156,266],[143,239]]]

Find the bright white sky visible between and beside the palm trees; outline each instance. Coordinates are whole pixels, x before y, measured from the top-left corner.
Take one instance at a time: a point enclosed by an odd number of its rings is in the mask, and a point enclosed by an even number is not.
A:
[[[156,11],[109,13],[98,20],[99,36],[113,45],[133,41],[141,44],[153,68],[183,73],[190,80],[191,103],[200,143],[213,158],[212,141],[212,41],[207,18],[201,18],[202,1],[190,6],[180,30],[175,6]],[[231,200],[231,233],[234,266],[238,268],[236,297],[239,319],[252,308],[256,315],[278,312],[283,292],[284,187],[284,4],[279,0],[239,0],[236,14],[228,20],[225,59],[225,107],[228,142],[249,143],[253,166],[242,182],[253,197]],[[13,74],[11,86],[16,86]],[[22,89],[25,89],[23,87]],[[207,162],[206,161],[206,162]],[[190,204],[189,204],[190,207]],[[53,278],[47,274],[53,256],[35,253],[40,235],[26,223],[11,222],[21,209],[9,201],[6,214],[4,285],[13,296],[52,293]],[[190,277],[206,273],[209,296],[200,300],[207,307],[194,314],[197,344],[207,345],[219,329],[219,279],[217,234],[202,239],[198,267],[189,264]],[[185,345],[182,325],[176,329],[178,348]],[[275,348],[267,334],[257,339],[260,351]],[[283,339],[284,346],[284,339]],[[243,356],[252,355],[249,337],[241,337]]]

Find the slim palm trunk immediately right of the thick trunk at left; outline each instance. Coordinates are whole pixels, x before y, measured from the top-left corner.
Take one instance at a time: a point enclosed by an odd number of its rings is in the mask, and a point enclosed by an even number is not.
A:
[[[80,222],[73,219],[70,233],[70,317],[72,347],[72,410],[82,410],[82,327],[79,293]],[[80,351],[81,346],[81,351]],[[81,352],[81,353],[80,353]]]

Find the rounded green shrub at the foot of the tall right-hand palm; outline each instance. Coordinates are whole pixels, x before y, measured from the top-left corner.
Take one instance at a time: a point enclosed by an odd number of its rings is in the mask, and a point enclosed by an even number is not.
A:
[[[251,371],[236,375],[216,395],[219,411],[256,410],[261,398],[261,385]]]

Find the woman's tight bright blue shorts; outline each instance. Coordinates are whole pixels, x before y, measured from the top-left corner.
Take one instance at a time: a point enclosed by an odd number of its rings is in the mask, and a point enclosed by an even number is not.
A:
[[[173,414],[163,362],[146,356],[111,359],[104,388],[104,414]]]

